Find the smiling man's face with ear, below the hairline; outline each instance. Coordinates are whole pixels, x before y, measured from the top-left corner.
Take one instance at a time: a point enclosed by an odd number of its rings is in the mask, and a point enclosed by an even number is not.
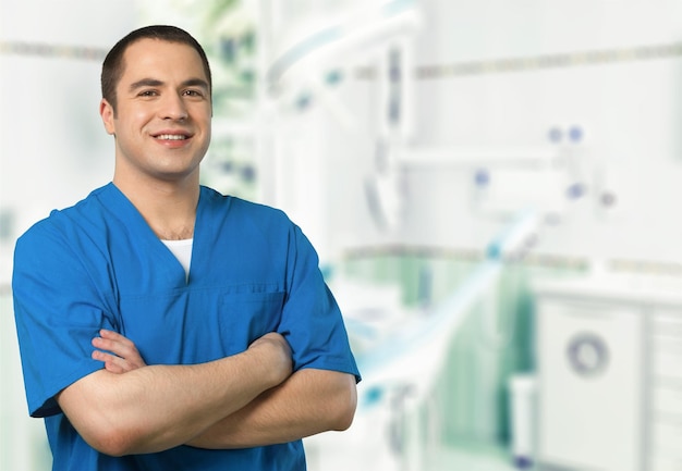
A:
[[[126,49],[117,85],[115,114],[100,114],[115,136],[115,178],[180,181],[198,176],[210,141],[208,77],[190,46],[142,39]]]

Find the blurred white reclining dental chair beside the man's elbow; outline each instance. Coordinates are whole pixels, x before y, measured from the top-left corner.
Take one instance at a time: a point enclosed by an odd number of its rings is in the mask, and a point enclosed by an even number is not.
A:
[[[437,379],[444,371],[449,349],[461,325],[473,312],[478,312],[475,309],[482,302],[495,296],[503,265],[501,256],[523,252],[526,238],[535,233],[536,226],[527,224],[526,218],[524,213],[512,227],[502,231],[491,243],[486,258],[446,299],[433,306],[427,303],[425,308],[406,311],[400,308],[397,294],[383,288],[375,292],[375,296],[368,295],[366,306],[382,305],[392,312],[381,315],[381,308],[365,307],[363,313],[357,314],[362,303],[354,307],[352,301],[345,301],[345,296],[352,294],[352,299],[357,300],[362,287],[355,285],[349,290],[346,286],[344,293],[343,288],[332,285],[344,311],[351,343],[361,346],[355,354],[363,382],[358,386],[353,427],[342,436],[334,436],[333,443],[326,436],[307,441],[317,469],[361,466],[385,471],[426,469],[428,458],[442,444],[442,410],[433,396]],[[483,314],[490,315],[490,312],[484,308]],[[482,339],[485,337],[490,343],[487,348],[496,348],[501,339],[490,322],[479,325],[479,332]],[[486,330],[494,332],[484,332]],[[506,330],[514,332],[513,325]],[[474,382],[470,387],[477,385]],[[346,446],[361,454],[362,463],[355,456],[333,451]],[[367,459],[373,461],[368,463]]]

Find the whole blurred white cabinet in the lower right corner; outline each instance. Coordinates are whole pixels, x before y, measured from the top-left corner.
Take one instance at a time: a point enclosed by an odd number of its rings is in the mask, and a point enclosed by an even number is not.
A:
[[[549,468],[682,471],[682,286],[536,286],[538,443]]]

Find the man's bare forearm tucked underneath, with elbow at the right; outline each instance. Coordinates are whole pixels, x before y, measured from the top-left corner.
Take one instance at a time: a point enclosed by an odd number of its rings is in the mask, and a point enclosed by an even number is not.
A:
[[[187,442],[199,448],[247,448],[287,443],[351,425],[355,377],[304,369]]]

